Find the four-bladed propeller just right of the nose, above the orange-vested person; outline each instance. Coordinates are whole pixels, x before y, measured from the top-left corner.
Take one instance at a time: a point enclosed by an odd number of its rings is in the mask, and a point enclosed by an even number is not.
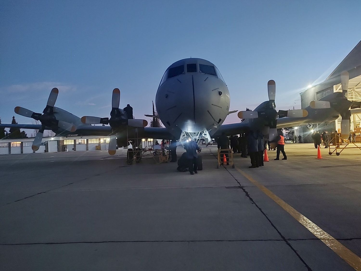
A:
[[[240,119],[257,119],[262,118],[266,121],[267,129],[262,129],[262,131],[269,130],[269,140],[272,141],[277,134],[277,116],[279,118],[283,117],[306,117],[308,112],[305,109],[293,109],[293,110],[275,110],[275,98],[276,98],[276,83],[273,80],[268,81],[268,102],[265,102],[263,111],[239,111],[238,117]]]

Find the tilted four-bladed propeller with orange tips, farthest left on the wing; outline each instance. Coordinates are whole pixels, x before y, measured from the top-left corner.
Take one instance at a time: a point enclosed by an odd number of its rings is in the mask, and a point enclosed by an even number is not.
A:
[[[40,144],[42,143],[44,130],[46,127],[49,127],[54,131],[58,130],[59,128],[69,131],[69,132],[75,132],[75,130],[77,130],[75,125],[73,125],[69,122],[66,122],[66,121],[61,121],[61,120],[56,119],[56,117],[54,115],[54,104],[56,102],[56,98],[58,97],[58,93],[59,93],[59,90],[56,87],[54,87],[50,91],[48,102],[46,104],[46,107],[43,110],[43,114],[35,113],[29,109],[19,107],[19,106],[14,108],[15,113],[17,113],[18,115],[21,115],[24,117],[29,117],[34,120],[39,120],[42,124],[41,128],[39,129],[39,132],[36,134],[36,137],[34,138],[34,141],[32,142],[31,149],[33,151],[39,150]]]

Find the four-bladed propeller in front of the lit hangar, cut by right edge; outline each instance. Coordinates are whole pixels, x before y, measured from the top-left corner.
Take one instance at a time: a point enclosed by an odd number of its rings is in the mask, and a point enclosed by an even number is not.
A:
[[[346,70],[341,73],[342,95],[336,96],[335,102],[312,101],[310,107],[314,109],[334,108],[341,116],[341,137],[348,138],[350,134],[351,109],[361,108],[361,102],[347,100],[349,74]]]

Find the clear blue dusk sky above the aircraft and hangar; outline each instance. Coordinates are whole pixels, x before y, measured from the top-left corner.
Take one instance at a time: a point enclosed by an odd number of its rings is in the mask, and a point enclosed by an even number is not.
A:
[[[130,103],[143,118],[152,113],[165,69],[190,56],[219,68],[231,110],[267,100],[269,79],[276,81],[278,109],[299,108],[304,87],[325,79],[361,39],[358,0],[0,5],[3,123],[15,106],[42,112],[52,87],[59,89],[56,106],[79,117],[108,117],[118,87],[121,107]],[[230,115],[225,122],[237,120]]]

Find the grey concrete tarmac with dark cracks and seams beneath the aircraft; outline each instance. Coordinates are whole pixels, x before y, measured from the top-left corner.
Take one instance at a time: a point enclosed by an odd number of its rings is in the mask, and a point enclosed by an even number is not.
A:
[[[285,151],[217,169],[203,147],[195,175],[120,149],[1,155],[0,269],[355,270],[243,173],[360,257],[361,151]]]

